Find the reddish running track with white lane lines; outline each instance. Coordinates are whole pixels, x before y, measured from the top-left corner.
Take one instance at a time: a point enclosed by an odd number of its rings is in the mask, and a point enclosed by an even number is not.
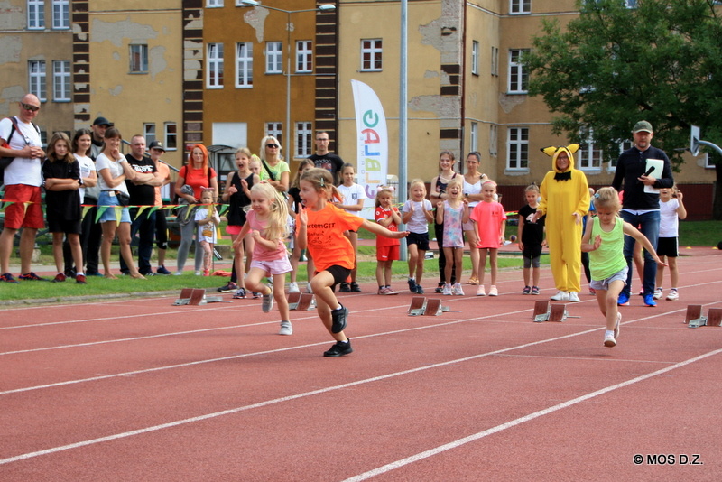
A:
[[[722,254],[683,252],[681,300],[634,297],[616,348],[586,294],[533,323],[551,276],[523,296],[518,271],[438,317],[343,294],[341,358],[315,311],[281,337],[260,301],[5,309],[0,480],[719,480],[722,328],[682,320],[722,306]]]

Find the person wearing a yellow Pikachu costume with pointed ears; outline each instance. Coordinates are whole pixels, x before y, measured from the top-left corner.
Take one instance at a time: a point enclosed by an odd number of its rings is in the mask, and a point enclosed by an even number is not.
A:
[[[542,181],[542,200],[534,220],[547,217],[551,274],[558,290],[551,297],[555,301],[579,301],[581,290],[582,219],[589,210],[589,186],[584,172],[574,169],[577,150],[579,144],[542,149],[551,156],[552,170]]]

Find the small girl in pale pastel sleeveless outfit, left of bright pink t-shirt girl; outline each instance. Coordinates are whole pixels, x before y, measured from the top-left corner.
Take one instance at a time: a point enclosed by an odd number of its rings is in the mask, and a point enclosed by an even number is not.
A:
[[[468,201],[464,200],[462,193],[463,178],[459,176],[449,181],[446,187],[448,198],[436,203],[436,222],[444,225],[441,245],[446,256],[444,266],[444,289],[441,294],[464,295],[461,288],[461,271],[464,261],[464,231],[463,225],[468,221]],[[456,281],[451,287],[451,273],[456,273]]]

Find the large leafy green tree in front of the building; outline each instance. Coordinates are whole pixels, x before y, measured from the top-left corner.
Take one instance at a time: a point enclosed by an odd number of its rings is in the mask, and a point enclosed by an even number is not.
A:
[[[605,161],[616,159],[631,127],[648,120],[653,144],[680,171],[690,126],[722,144],[722,20],[715,0],[581,0],[566,28],[544,20],[523,57],[529,93],[544,98],[554,134],[593,133]],[[722,218],[722,160],[715,218]]]

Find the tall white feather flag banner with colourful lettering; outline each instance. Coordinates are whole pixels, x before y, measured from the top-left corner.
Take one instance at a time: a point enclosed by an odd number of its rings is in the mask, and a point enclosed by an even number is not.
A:
[[[384,107],[374,90],[365,83],[351,80],[356,110],[358,183],[366,190],[361,216],[374,218],[376,190],[386,184],[389,164],[389,136]]]

